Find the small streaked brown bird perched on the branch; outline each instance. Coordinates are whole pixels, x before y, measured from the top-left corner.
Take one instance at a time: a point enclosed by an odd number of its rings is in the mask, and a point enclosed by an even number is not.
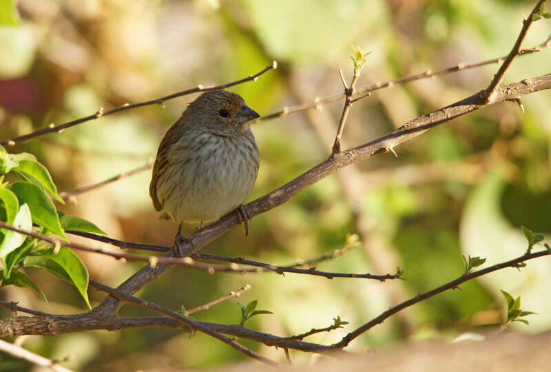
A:
[[[258,175],[260,155],[249,128],[258,118],[235,93],[211,90],[189,103],[160,142],[149,195],[160,218],[178,224],[209,223],[236,210],[240,221],[249,213],[243,201]]]

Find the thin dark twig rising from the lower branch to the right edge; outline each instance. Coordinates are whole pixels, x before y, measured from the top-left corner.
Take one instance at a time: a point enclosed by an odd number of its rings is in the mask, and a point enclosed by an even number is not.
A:
[[[512,260],[501,262],[496,265],[492,265],[490,267],[486,267],[486,269],[481,269],[478,271],[473,271],[471,273],[466,273],[462,276],[459,276],[459,278],[452,280],[451,282],[447,282],[445,285],[441,285],[440,287],[431,289],[430,291],[426,291],[425,293],[419,293],[417,296],[410,298],[409,300],[406,300],[401,304],[397,304],[394,307],[391,307],[391,309],[388,309],[387,311],[384,311],[384,313],[381,313],[380,316],[373,318],[371,321],[362,325],[362,327],[358,327],[348,335],[344,336],[342,340],[340,340],[336,344],[333,344],[332,346],[337,349],[346,347],[346,345],[348,345],[352,340],[357,338],[359,335],[362,335],[363,333],[368,331],[368,329],[375,327],[377,324],[381,324],[382,322],[384,322],[384,320],[393,316],[398,311],[402,311],[403,309],[406,309],[406,307],[410,307],[413,304],[417,304],[418,302],[424,301],[427,298],[431,298],[437,295],[438,293],[448,291],[449,289],[459,288],[458,286],[460,284],[467,282],[468,280],[478,278],[479,276],[486,275],[487,273],[491,273],[492,271],[497,271],[505,267],[516,267],[520,262],[532,260],[532,258],[538,258],[538,257],[550,256],[550,255],[551,255],[551,251],[549,250],[539,251],[534,253],[527,253],[527,254],[524,254],[523,256],[513,258]]]

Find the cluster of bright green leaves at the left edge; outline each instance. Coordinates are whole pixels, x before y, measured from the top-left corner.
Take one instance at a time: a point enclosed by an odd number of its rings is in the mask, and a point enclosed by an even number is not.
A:
[[[5,176],[10,173],[17,180],[4,182]],[[32,154],[9,154],[0,146],[1,221],[23,231],[35,231],[46,236],[56,234],[64,240],[67,240],[66,230],[105,234],[90,221],[58,211],[52,199],[64,203],[48,169]],[[23,270],[25,267],[39,267],[74,285],[90,308],[88,272],[71,249],[0,229],[0,262],[0,287],[27,287],[46,300],[45,294]]]

